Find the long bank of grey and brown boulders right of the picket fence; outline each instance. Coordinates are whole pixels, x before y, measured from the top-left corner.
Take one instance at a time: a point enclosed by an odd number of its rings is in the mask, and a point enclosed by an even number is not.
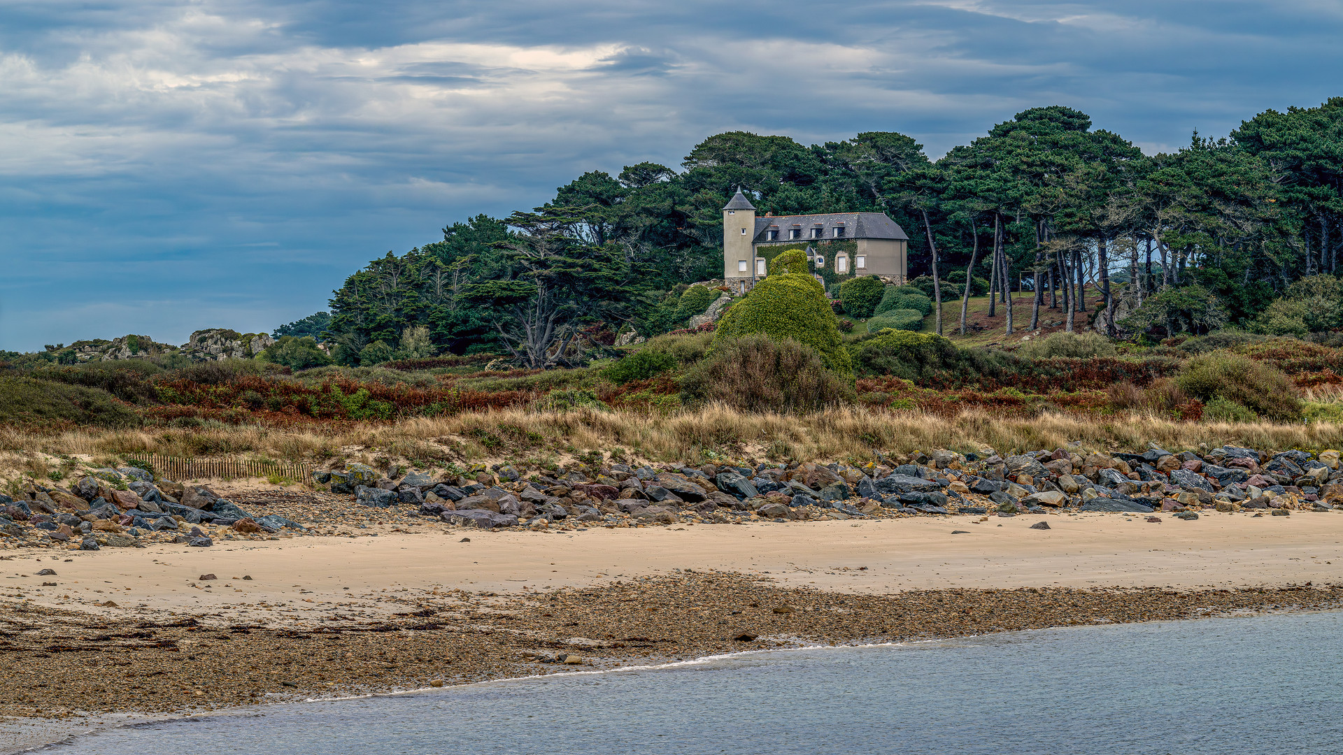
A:
[[[467,476],[385,477],[365,465],[317,474],[333,493],[375,508],[414,506],[449,524],[571,528],[900,516],[1201,509],[1289,515],[1343,510],[1336,451],[1101,454],[1080,447],[999,455],[936,450],[898,463],[600,468],[525,472],[478,466]]]

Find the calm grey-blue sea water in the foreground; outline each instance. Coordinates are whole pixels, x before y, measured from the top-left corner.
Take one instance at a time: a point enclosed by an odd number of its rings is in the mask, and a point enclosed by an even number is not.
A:
[[[1343,613],[748,653],[274,705],[44,751],[1343,754]]]

